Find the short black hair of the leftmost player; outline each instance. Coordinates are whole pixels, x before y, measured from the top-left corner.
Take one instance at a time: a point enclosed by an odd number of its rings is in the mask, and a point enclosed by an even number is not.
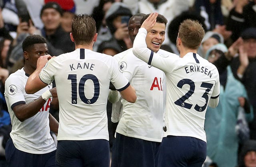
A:
[[[22,42],[22,50],[28,51],[34,44],[46,43],[46,39],[41,35],[29,35]]]

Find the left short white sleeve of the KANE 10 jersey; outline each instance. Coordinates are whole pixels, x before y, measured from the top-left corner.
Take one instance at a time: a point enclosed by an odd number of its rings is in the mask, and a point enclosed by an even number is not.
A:
[[[57,57],[50,59],[46,63],[42,71],[39,73],[39,78],[41,79],[42,82],[46,84],[51,84],[52,81],[54,80],[54,74],[56,72],[56,67],[57,67],[56,59]]]

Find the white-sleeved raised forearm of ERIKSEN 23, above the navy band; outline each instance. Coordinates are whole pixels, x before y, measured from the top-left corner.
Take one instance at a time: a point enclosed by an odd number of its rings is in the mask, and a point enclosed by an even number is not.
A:
[[[146,29],[140,28],[138,34],[134,39],[132,52],[136,57],[148,63],[151,50],[147,48],[147,44],[145,40],[146,35],[147,35]]]

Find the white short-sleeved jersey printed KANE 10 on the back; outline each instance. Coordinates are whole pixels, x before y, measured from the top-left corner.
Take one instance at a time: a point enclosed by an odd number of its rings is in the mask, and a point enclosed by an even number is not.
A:
[[[130,84],[112,56],[76,49],[50,59],[39,77],[46,84],[55,79],[60,106],[57,140],[108,140],[110,81],[119,91]]]

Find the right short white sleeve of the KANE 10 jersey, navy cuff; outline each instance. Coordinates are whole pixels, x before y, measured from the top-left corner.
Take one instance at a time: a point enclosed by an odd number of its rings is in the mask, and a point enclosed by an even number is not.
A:
[[[111,68],[112,73],[110,74],[110,82],[115,86],[116,90],[118,91],[126,89],[130,85],[130,83],[128,79],[126,79],[126,77],[124,77],[124,75],[118,69],[118,63],[116,62],[116,60],[114,60],[114,58],[112,60]]]

